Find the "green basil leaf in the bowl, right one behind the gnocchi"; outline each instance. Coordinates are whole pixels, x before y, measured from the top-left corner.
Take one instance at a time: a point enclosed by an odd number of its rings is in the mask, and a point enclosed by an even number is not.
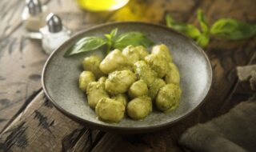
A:
[[[124,34],[120,34],[117,38],[113,40],[113,47],[115,49],[122,50],[126,46],[153,46],[154,42],[152,42],[149,38],[140,32],[127,32]]]

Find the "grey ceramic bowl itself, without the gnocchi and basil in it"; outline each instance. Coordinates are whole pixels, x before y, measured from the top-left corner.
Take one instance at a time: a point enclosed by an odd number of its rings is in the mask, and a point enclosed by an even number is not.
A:
[[[140,31],[157,44],[165,43],[171,50],[174,63],[181,75],[182,97],[174,112],[163,114],[154,110],[142,121],[123,118],[119,123],[106,123],[96,119],[94,110],[86,102],[86,94],[78,89],[78,76],[82,72],[82,59],[92,54],[104,57],[104,50],[90,51],[70,58],[63,54],[74,42],[86,36],[101,36],[118,28],[118,34]],[[206,98],[212,82],[212,69],[204,51],[190,38],[165,26],[142,22],[115,22],[84,30],[62,44],[48,58],[42,71],[42,86],[46,96],[58,110],[86,126],[118,133],[144,133],[162,129],[181,120],[196,109]]]

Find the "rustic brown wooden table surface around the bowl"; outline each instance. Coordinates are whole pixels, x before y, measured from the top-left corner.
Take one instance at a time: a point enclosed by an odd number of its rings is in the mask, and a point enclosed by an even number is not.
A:
[[[197,25],[195,11],[202,8],[212,24],[217,18],[256,22],[254,0],[130,0],[110,13],[78,9],[74,0],[43,1],[75,32],[104,22],[139,20],[165,24],[170,13],[181,22]],[[48,55],[41,43],[23,35],[24,1],[0,1],[0,151],[182,151],[178,137],[198,122],[226,113],[250,96],[238,89],[236,66],[255,62],[256,38],[240,42],[211,39],[205,49],[214,70],[214,83],[206,102],[189,117],[150,134],[120,135],[90,129],[54,108],[42,91],[42,66]]]

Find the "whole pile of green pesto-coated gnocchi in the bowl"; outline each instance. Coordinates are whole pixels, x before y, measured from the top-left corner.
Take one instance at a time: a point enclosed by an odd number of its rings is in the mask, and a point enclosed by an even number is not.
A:
[[[82,66],[79,88],[101,121],[120,122],[126,112],[129,118],[141,120],[153,106],[167,113],[179,105],[180,75],[164,44],[154,46],[151,54],[143,46],[126,46],[102,61],[86,57]]]

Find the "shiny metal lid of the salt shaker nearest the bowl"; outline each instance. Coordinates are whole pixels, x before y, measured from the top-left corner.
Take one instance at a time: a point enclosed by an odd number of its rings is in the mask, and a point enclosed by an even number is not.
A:
[[[50,13],[47,15],[46,23],[50,33],[58,33],[62,30],[62,19],[58,15]]]

